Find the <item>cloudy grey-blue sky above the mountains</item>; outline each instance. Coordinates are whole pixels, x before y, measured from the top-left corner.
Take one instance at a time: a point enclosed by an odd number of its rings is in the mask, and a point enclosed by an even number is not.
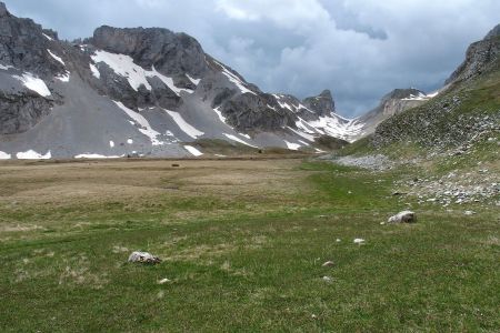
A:
[[[61,39],[102,24],[187,32],[266,92],[330,89],[344,117],[396,88],[438,89],[467,47],[500,23],[498,0],[3,1]]]

